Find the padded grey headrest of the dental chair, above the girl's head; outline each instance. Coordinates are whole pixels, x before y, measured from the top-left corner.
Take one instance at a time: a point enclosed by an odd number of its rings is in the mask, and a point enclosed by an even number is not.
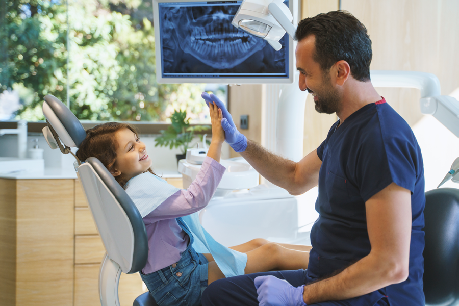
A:
[[[43,115],[59,135],[59,139],[68,147],[79,147],[86,138],[86,132],[80,121],[55,96],[44,96]]]

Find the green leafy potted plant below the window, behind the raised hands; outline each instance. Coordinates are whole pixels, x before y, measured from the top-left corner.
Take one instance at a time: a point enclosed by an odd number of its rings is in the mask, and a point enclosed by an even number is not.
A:
[[[176,154],[177,163],[179,160],[185,158],[187,149],[190,148],[190,143],[194,138],[194,132],[210,129],[210,125],[191,126],[189,122],[190,118],[187,119],[186,117],[186,111],[175,110],[169,117],[172,123],[167,127],[167,130],[161,130],[161,136],[155,139],[155,147],[169,146],[170,149],[181,148],[182,154]]]

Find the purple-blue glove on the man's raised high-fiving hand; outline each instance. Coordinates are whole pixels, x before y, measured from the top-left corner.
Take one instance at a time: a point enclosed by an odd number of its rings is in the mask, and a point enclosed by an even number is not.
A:
[[[222,101],[213,93],[210,95],[207,92],[203,92],[201,97],[206,101],[207,106],[209,103],[215,102],[217,107],[221,109],[223,119],[221,120],[221,127],[225,131],[225,141],[238,153],[245,151],[247,148],[247,138],[241,134],[236,125],[233,122],[233,117],[225,108]]]

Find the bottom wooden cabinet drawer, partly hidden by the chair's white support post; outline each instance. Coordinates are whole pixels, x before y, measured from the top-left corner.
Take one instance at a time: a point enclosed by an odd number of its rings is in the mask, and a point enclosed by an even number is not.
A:
[[[98,278],[100,264],[75,266],[74,306],[100,306]],[[121,306],[131,306],[134,299],[146,292],[139,273],[121,273],[118,295]]]

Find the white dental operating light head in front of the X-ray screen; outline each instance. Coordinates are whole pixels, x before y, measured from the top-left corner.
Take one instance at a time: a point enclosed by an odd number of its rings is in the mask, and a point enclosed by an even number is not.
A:
[[[276,51],[279,40],[288,33],[295,36],[293,16],[282,0],[244,0],[231,24],[253,36],[263,38]]]

